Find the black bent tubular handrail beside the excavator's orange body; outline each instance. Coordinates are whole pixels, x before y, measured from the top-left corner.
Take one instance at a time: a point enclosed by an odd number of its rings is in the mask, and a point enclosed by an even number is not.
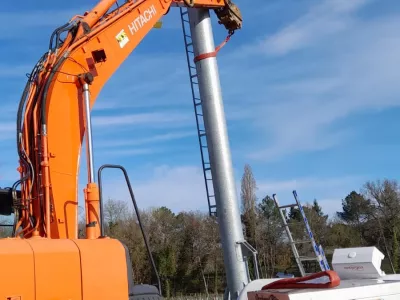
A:
[[[131,183],[129,181],[128,173],[126,172],[125,168],[120,166],[120,165],[102,165],[98,170],[98,175],[97,176],[98,176],[98,181],[99,181],[99,200],[100,200],[100,219],[101,219],[100,220],[100,222],[101,222],[101,226],[100,226],[101,229],[100,230],[101,230],[101,235],[104,236],[103,199],[102,199],[103,197],[102,197],[102,187],[101,187],[101,172],[103,171],[103,169],[120,169],[124,173],[125,181],[126,181],[126,184],[128,185],[129,194],[131,196],[133,206],[135,207],[135,212],[136,212],[136,217],[138,219],[139,227],[140,227],[140,230],[142,231],[144,243],[146,245],[147,254],[148,254],[149,259],[151,261],[151,265],[152,265],[153,271],[154,271],[154,273],[155,273],[155,275],[157,277],[159,294],[160,294],[160,296],[162,296],[160,276],[158,274],[158,271],[157,271],[157,268],[156,268],[156,264],[154,263],[153,255],[151,254],[151,250],[150,250],[150,247],[149,247],[149,243],[148,243],[146,232],[144,231],[144,228],[143,228],[143,225],[142,225],[142,221],[140,219],[139,208],[138,208],[137,203],[136,203],[135,195],[133,194],[133,191],[132,191],[132,186],[131,186]]]

